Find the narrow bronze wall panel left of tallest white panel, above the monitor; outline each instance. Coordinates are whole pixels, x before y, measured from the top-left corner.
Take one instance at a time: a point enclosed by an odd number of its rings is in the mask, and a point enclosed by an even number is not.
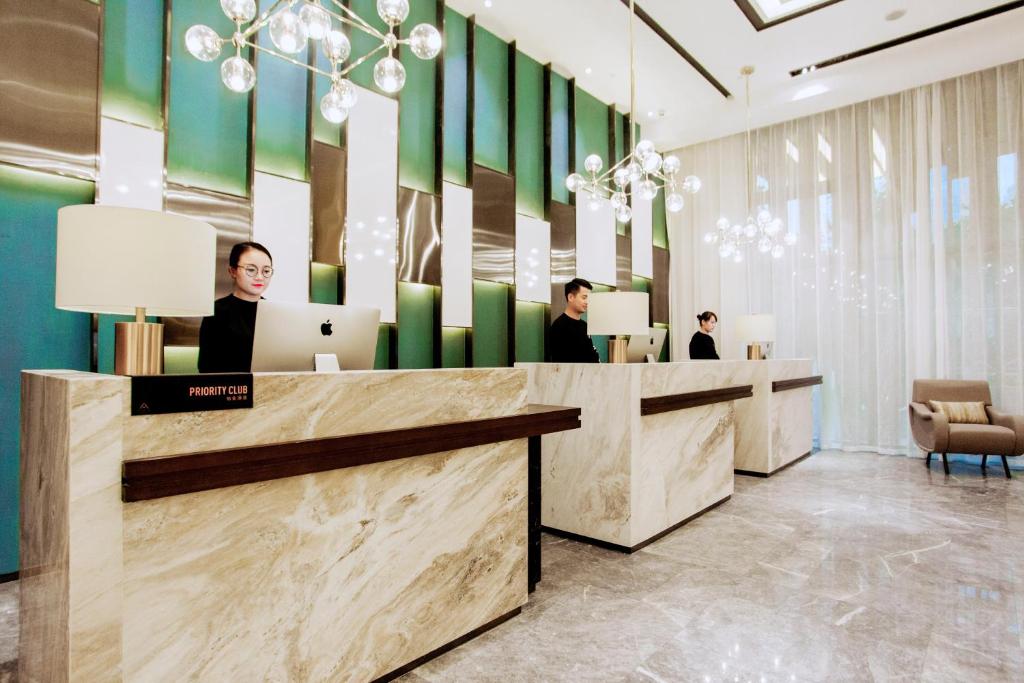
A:
[[[313,260],[344,265],[345,151],[313,142],[311,166]]]

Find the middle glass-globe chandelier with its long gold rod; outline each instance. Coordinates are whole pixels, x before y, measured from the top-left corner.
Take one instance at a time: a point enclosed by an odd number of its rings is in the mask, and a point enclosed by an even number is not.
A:
[[[603,200],[611,202],[615,218],[627,223],[633,217],[629,198],[636,195],[653,200],[657,190],[665,188],[665,206],[673,213],[682,211],[685,201],[682,193],[693,195],[700,189],[700,179],[688,175],[679,180],[680,162],[675,156],[664,159],[650,140],[635,140],[634,112],[636,111],[636,50],[633,43],[633,22],[636,17],[634,0],[630,0],[630,152],[617,164],[601,172],[604,162],[599,155],[584,160],[587,175],[572,173],[565,179],[570,193],[587,195],[587,206],[592,211],[601,208]]]

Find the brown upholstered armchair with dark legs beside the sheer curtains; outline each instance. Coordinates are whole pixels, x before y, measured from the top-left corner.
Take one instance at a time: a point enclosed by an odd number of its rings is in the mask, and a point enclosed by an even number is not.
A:
[[[1024,416],[1007,415],[992,408],[988,382],[971,380],[914,380],[910,403],[910,432],[918,445],[928,452],[926,467],[931,467],[932,455],[942,455],[942,467],[949,474],[947,453],[981,456],[981,468],[989,456],[1002,459],[1002,471],[1010,478],[1008,456],[1024,455]],[[941,413],[933,413],[930,400],[981,401],[988,414],[987,425],[949,424]]]

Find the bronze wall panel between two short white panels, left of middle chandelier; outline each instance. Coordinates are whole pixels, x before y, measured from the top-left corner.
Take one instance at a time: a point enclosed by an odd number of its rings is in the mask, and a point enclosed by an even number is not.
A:
[[[515,284],[515,178],[473,169],[473,279]]]

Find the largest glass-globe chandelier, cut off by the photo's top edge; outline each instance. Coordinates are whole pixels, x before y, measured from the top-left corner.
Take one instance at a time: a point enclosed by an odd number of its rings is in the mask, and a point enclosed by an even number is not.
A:
[[[248,92],[256,85],[256,70],[242,56],[245,47],[272,54],[324,76],[331,80],[331,89],[321,98],[321,114],[331,123],[343,122],[355,105],[355,86],[345,77],[378,52],[386,50],[387,56],[374,67],[374,83],[384,92],[392,94],[406,85],[406,68],[394,56],[398,45],[409,45],[413,54],[421,59],[433,59],[441,50],[441,35],[429,24],[417,25],[409,38],[398,39],[398,25],[409,16],[409,0],[377,0],[377,13],[387,24],[387,33],[378,31],[339,0],[278,0],[258,18],[256,0],[220,0],[220,7],[234,23],[234,33],[228,38],[221,38],[208,26],[194,26],[185,32],[188,52],[202,61],[213,61],[220,56],[224,46],[233,47],[234,54],[220,65],[220,80],[234,92]],[[298,11],[295,11],[296,7]],[[369,34],[381,43],[343,67],[352,51],[348,36],[340,30],[345,26]],[[276,49],[256,43],[256,35],[264,27],[267,27],[270,42]],[[321,49],[331,63],[330,72],[290,56],[300,53],[310,40],[321,42]]]

